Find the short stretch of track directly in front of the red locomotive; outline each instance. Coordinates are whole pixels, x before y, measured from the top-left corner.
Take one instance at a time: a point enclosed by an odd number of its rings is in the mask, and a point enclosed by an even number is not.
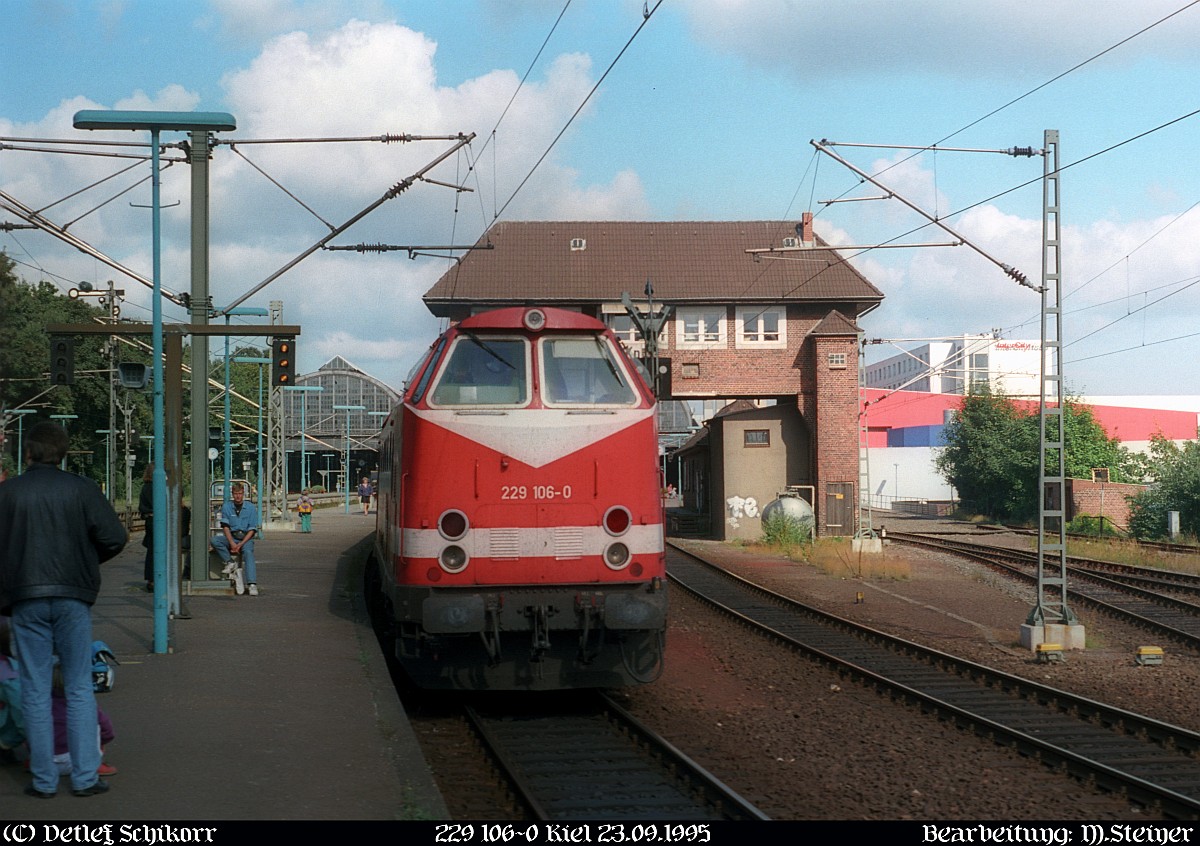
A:
[[[769,818],[606,696],[467,716],[535,820]]]

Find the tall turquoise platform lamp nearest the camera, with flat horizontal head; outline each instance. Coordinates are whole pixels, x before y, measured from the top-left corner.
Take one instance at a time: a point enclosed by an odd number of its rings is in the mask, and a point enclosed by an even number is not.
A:
[[[84,109],[76,112],[77,130],[150,131],[150,229],[152,254],[152,360],[154,360],[154,650],[167,652],[167,462],[166,412],[163,408],[162,331],[162,203],[158,173],[158,137],[163,130],[178,132],[228,132],[236,130],[226,112],[143,112]]]

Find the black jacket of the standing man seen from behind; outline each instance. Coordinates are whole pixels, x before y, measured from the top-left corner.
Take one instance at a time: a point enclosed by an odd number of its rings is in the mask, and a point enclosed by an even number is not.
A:
[[[25,599],[65,596],[91,605],[100,564],[128,535],[90,479],[31,464],[0,484],[0,613]]]

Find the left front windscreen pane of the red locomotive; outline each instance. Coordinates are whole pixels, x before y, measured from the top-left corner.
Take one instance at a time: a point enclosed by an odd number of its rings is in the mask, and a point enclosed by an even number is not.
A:
[[[431,406],[523,406],[529,402],[529,348],[522,338],[455,338],[430,395]]]

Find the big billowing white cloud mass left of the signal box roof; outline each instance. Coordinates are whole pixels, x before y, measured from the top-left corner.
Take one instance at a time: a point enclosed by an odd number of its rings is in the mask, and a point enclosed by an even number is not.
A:
[[[318,4],[218,4],[228,22],[253,31],[256,25],[278,26],[313,20]],[[257,16],[253,19],[246,16]],[[270,19],[270,20],[268,20]],[[319,23],[319,22],[318,22]],[[270,25],[268,25],[270,24]],[[520,77],[496,68],[457,86],[438,84],[437,44],[427,36],[396,23],[352,20],[326,31],[288,31],[271,38],[245,67],[228,72],[223,110],[238,120],[232,139],[330,138],[476,133],[469,156],[450,157],[430,178],[476,190],[456,194],[452,188],[418,181],[356,223],[334,244],[443,245],[473,244],[506,202],[534,163],[551,146],[568,118],[594,84],[588,56],[568,53],[545,65],[541,79],[530,79],[500,125],[496,139],[488,132],[517,89]],[[188,110],[199,97],[182,85],[167,85],[148,95],[133,91],[115,108]],[[83,97],[66,100],[36,126],[0,124],[5,134],[72,137],[74,112],[106,108]],[[577,119],[586,121],[586,112]],[[146,140],[122,133],[121,140]],[[96,136],[92,136],[96,137]],[[170,140],[181,140],[172,138]],[[487,146],[484,155],[480,151]],[[448,140],[407,144],[245,144],[234,152],[218,145],[211,178],[211,294],[220,307],[241,298],[284,268],[340,226],[384,196],[402,179],[425,168],[450,148]],[[247,164],[245,155],[283,190],[294,194],[322,218],[301,208]],[[8,155],[7,152],[5,154]],[[178,156],[168,150],[167,156]],[[479,156],[474,172],[468,164]],[[112,174],[110,160],[29,155],[29,168],[7,169],[2,187],[41,208]],[[493,173],[494,172],[494,173]],[[72,220],[103,199],[128,187],[148,173],[138,166],[48,212],[55,221]],[[163,282],[188,288],[190,170],[168,168],[163,174]],[[102,251],[146,276],[150,275],[149,217],[144,208],[149,187],[142,185],[84,216],[73,232]],[[175,205],[175,203],[179,205]],[[455,211],[456,204],[460,209]],[[578,172],[565,167],[556,148],[521,190],[505,218],[630,218],[648,214],[638,175],[611,174],[607,182],[584,184]],[[324,222],[323,222],[324,221]],[[96,274],[103,281],[113,271],[67,247],[59,250],[64,264],[79,278]],[[284,272],[242,305],[265,307],[284,302],[286,323],[302,323],[300,366],[314,368],[342,352],[356,365],[398,386],[415,358],[432,341],[438,322],[420,301],[443,272],[443,262],[407,260],[403,252],[358,254],[318,251]],[[127,312],[138,316],[149,295],[136,283],[119,282],[128,290]],[[170,319],[178,319],[174,307]]]

